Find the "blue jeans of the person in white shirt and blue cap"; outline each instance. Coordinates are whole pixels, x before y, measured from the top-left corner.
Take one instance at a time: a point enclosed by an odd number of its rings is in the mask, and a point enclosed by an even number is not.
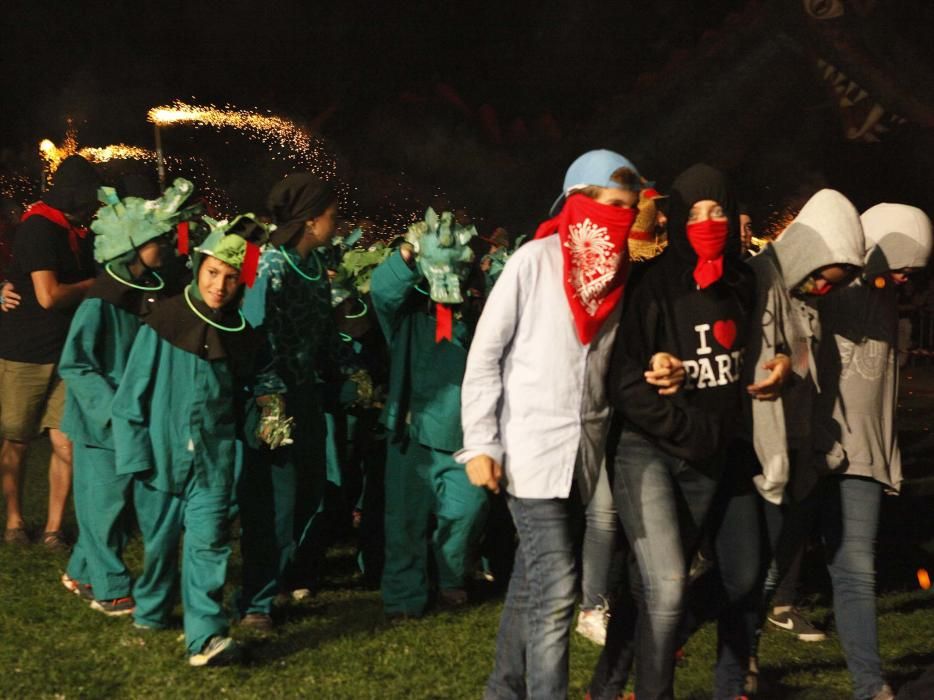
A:
[[[519,535],[484,697],[566,698],[575,562],[570,498],[506,496]]]

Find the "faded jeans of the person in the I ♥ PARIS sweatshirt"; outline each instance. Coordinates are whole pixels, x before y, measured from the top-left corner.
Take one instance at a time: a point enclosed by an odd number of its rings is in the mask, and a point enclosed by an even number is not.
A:
[[[620,435],[614,466],[616,510],[636,555],[642,583],[635,628],[636,697],[672,698],[688,556],[707,515],[717,479],[627,429]],[[609,640],[611,634],[624,634],[623,627],[621,623],[614,625],[610,618],[605,651],[623,648],[617,640],[611,647]],[[622,673],[611,675],[625,680]]]

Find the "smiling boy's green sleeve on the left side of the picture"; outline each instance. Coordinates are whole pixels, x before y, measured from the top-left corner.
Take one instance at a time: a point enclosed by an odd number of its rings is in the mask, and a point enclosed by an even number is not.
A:
[[[149,326],[140,328],[130,350],[126,372],[113,401],[114,449],[117,472],[132,474],[152,469],[149,418],[152,386],[158,374],[162,341]]]

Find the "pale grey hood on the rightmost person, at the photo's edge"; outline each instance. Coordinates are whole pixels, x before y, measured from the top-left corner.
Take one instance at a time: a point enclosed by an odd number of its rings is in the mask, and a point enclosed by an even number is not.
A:
[[[867,277],[924,267],[931,257],[931,220],[907,204],[877,204],[860,217],[866,235]]]

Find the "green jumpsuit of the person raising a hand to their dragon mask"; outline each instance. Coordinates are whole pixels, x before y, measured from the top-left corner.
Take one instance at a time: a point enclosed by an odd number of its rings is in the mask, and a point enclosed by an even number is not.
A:
[[[389,343],[383,608],[419,616],[428,604],[429,542],[442,591],[462,589],[487,497],[453,453],[463,446],[460,386],[469,329],[435,342],[435,317],[421,275],[396,252],[373,272],[371,297]],[[436,519],[429,531],[431,516]],[[430,538],[430,539],[429,539]]]

